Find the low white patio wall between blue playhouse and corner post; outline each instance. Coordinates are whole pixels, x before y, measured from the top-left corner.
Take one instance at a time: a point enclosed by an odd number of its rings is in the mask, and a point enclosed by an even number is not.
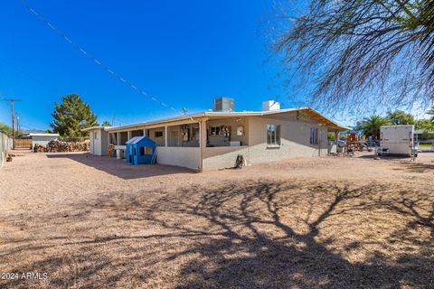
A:
[[[201,165],[200,147],[167,147],[156,148],[156,163],[183,166],[198,170]]]

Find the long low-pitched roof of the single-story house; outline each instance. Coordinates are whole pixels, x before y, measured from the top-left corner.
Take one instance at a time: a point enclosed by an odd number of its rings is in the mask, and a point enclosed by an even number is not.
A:
[[[118,131],[122,129],[130,129],[130,128],[136,128],[139,126],[154,126],[158,124],[165,124],[169,122],[175,122],[180,120],[188,120],[188,119],[194,119],[198,117],[210,117],[210,118],[217,118],[217,117],[260,117],[260,116],[270,116],[270,115],[278,115],[278,114],[284,114],[288,112],[304,112],[312,119],[318,121],[318,123],[328,126],[335,130],[346,130],[349,129],[347,126],[341,126],[335,121],[323,116],[319,112],[317,112],[315,109],[311,107],[299,107],[299,108],[286,108],[286,109],[278,109],[278,110],[268,110],[268,111],[242,111],[242,112],[236,112],[236,111],[203,111],[201,113],[191,114],[191,115],[184,115],[179,117],[167,117],[152,121],[147,121],[143,123],[137,123],[133,125],[127,125],[127,126],[109,126],[105,127],[106,131]],[[95,128],[100,128],[104,126],[95,126]],[[86,130],[90,130],[92,127],[87,128]]]

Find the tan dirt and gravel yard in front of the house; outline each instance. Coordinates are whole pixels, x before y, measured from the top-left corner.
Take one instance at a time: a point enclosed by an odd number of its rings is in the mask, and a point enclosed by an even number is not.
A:
[[[19,275],[2,288],[434,287],[432,153],[202,173],[15,154],[0,272]]]

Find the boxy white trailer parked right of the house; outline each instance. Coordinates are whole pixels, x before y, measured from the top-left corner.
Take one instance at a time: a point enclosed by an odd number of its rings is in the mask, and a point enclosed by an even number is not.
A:
[[[413,155],[414,126],[380,126],[382,154]]]

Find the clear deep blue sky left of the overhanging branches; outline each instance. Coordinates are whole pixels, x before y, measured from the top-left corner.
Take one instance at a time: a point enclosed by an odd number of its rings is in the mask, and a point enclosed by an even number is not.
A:
[[[283,100],[267,51],[272,1],[35,1],[33,8],[113,70],[175,108],[212,107],[235,98],[237,110]],[[18,0],[0,4],[0,91],[22,98],[24,128],[49,128],[55,101],[77,93],[115,125],[167,117],[48,29]],[[0,104],[0,121],[10,123]]]

